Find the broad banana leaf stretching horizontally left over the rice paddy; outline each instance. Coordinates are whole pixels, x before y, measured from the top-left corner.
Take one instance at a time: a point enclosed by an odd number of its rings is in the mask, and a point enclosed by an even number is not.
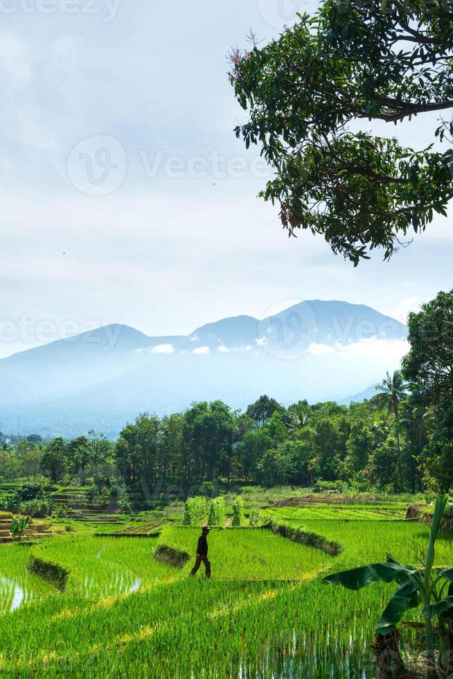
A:
[[[323,581],[332,585],[343,585],[348,590],[361,590],[377,582],[407,582],[411,575],[416,573],[417,569],[414,566],[405,566],[392,560],[335,573],[324,578]]]

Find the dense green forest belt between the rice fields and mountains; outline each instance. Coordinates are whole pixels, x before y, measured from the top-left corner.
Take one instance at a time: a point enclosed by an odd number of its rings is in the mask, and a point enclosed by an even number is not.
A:
[[[453,480],[453,292],[409,317],[411,351],[375,397],[346,407],[283,407],[261,396],[245,412],[220,400],[158,418],[141,414],[116,442],[89,432],[0,448],[0,478],[121,482],[151,492],[202,482],[347,485],[442,491]]]

